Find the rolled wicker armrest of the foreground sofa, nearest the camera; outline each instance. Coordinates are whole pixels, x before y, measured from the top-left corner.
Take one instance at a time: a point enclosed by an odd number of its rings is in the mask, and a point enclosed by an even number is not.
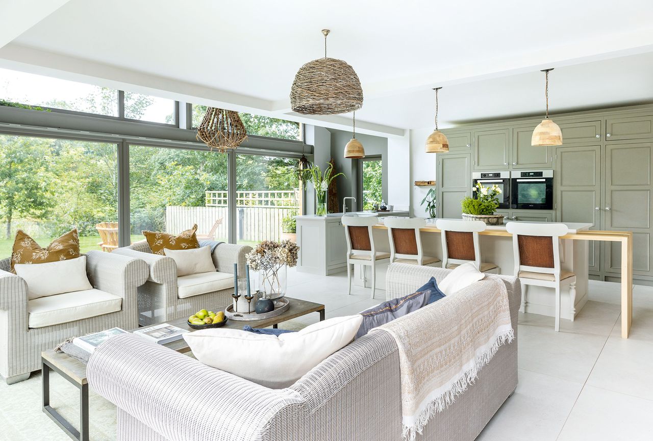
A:
[[[259,439],[285,406],[301,404],[292,389],[268,389],[133,334],[113,337],[89,359],[97,393],[167,440]]]

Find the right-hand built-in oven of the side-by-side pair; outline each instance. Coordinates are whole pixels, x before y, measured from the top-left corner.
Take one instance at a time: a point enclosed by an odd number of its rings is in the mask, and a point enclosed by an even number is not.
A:
[[[512,172],[511,206],[516,209],[553,209],[553,170]]]

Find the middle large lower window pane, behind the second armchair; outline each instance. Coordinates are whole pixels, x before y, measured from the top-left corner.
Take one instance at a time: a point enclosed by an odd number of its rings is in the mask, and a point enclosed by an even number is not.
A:
[[[142,230],[179,234],[197,224],[200,239],[229,241],[228,155],[129,146],[132,241]]]

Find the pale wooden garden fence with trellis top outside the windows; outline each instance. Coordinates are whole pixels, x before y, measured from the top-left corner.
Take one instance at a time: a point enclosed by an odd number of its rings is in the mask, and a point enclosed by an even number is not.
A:
[[[295,191],[236,192],[236,237],[239,241],[260,242],[281,238],[281,221],[298,210]],[[207,191],[206,207],[166,207],[166,231],[178,234],[197,224],[198,234],[208,234],[218,219],[215,240],[229,237],[227,192]]]

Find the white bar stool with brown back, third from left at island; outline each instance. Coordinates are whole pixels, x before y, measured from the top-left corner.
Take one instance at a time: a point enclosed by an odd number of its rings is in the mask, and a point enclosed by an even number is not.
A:
[[[447,221],[438,219],[436,228],[441,231],[442,267],[454,269],[467,262],[474,262],[481,273],[500,274],[500,268],[491,262],[481,262],[479,233],[487,225],[481,221]]]

